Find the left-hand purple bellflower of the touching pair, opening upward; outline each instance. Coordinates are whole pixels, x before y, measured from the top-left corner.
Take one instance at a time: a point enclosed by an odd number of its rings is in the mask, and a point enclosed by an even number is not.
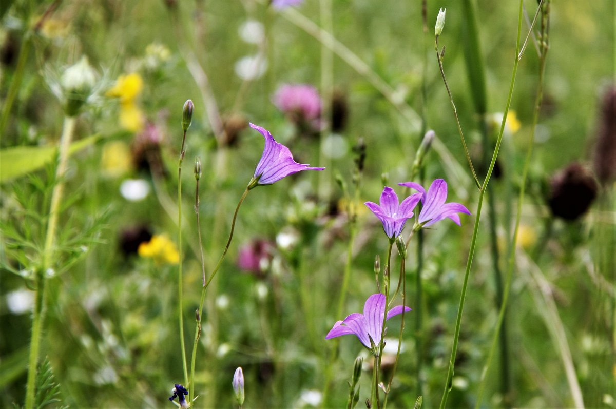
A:
[[[413,217],[413,209],[415,209],[420,199],[421,193],[415,193],[399,204],[398,196],[395,194],[394,189],[386,186],[383,189],[383,193],[381,193],[381,206],[371,201],[367,201],[364,204],[383,223],[383,230],[385,230],[389,240],[395,240],[402,233],[407,219]]]

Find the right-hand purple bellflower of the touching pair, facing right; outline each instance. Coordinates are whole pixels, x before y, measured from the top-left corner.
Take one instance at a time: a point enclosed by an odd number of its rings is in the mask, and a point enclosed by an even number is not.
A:
[[[452,219],[455,224],[460,225],[458,213],[471,214],[463,204],[445,203],[445,200],[447,200],[447,182],[443,179],[434,180],[427,193],[422,185],[415,182],[404,182],[399,183],[399,185],[419,190],[419,193],[421,193],[423,208],[421,208],[418,220],[418,224],[421,227],[432,225],[445,219],[445,217]]]

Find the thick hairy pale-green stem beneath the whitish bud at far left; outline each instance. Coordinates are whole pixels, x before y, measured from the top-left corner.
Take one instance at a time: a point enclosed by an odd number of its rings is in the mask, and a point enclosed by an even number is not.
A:
[[[36,272],[36,298],[34,300],[34,311],[32,316],[32,336],[30,339],[30,358],[28,360],[28,381],[26,383],[26,409],[34,407],[36,366],[38,365],[38,355],[41,346],[41,333],[43,330],[44,312],[46,303],[45,283],[47,270],[52,268],[52,256],[54,254],[55,231],[58,225],[60,213],[60,201],[64,192],[63,177],[67,171],[68,148],[73,139],[75,130],[75,117],[65,116],[60,136],[58,167],[55,169],[55,186],[51,194],[51,205],[49,207],[49,220],[47,221],[47,232],[45,237],[45,247],[43,249],[43,264],[41,269]]]

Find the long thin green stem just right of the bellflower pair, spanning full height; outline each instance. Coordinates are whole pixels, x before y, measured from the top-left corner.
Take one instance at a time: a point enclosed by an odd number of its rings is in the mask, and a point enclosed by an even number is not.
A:
[[[456,353],[458,352],[458,341],[460,339],[460,327],[462,322],[462,313],[464,310],[464,301],[466,299],[466,288],[468,286],[468,279],[471,273],[471,265],[472,265],[472,257],[475,254],[475,246],[477,244],[477,235],[479,232],[479,221],[481,217],[481,209],[484,203],[485,196],[485,188],[490,182],[490,177],[492,176],[492,172],[494,170],[494,165],[496,163],[496,157],[498,156],[498,151],[500,149],[501,142],[503,142],[503,132],[505,131],[505,120],[507,118],[507,113],[509,111],[509,106],[511,105],[511,99],[513,97],[513,89],[516,83],[516,74],[517,74],[517,66],[520,62],[518,58],[521,44],[521,33],[522,33],[522,5],[524,2],[520,0],[519,12],[517,17],[517,36],[516,36],[516,55],[514,59],[513,65],[513,73],[511,74],[511,83],[509,84],[509,94],[507,96],[507,102],[505,105],[505,113],[503,114],[503,120],[501,121],[501,128],[498,134],[498,139],[496,140],[496,147],[494,149],[494,153],[492,155],[492,161],[490,162],[490,167],[488,168],[487,175],[485,176],[484,183],[481,185],[479,189],[479,203],[477,203],[477,211],[475,216],[475,224],[473,227],[472,238],[471,238],[471,246],[469,249],[468,259],[466,261],[466,269],[464,271],[464,282],[462,285],[462,293],[460,295],[460,306],[458,306],[458,315],[456,317],[456,325],[455,331],[453,335],[453,346],[452,346],[452,355],[449,360],[449,369],[447,371],[447,378],[445,380],[445,390],[443,392],[443,397],[440,401],[440,409],[444,409],[447,403],[447,397],[452,387],[452,379],[453,379],[453,366],[456,359]]]

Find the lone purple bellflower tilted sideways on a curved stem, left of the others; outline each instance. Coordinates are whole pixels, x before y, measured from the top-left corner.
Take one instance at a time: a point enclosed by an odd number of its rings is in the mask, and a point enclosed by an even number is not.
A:
[[[265,138],[265,148],[257,168],[254,169],[254,177],[249,184],[249,188],[258,185],[271,185],[283,177],[299,171],[322,171],[325,169],[297,163],[293,160],[289,148],[283,144],[278,144],[269,131],[255,124],[250,124],[250,127],[261,132],[261,135]]]

